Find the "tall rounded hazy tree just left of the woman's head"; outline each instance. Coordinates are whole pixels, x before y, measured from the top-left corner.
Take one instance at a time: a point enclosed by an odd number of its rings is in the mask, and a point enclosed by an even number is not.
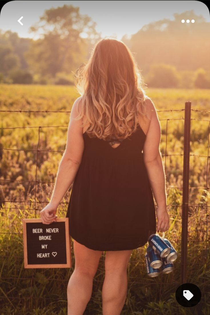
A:
[[[95,22],[72,5],[46,10],[30,30],[43,35],[31,44],[25,57],[31,69],[42,76],[71,72],[84,62],[89,40],[98,38]]]

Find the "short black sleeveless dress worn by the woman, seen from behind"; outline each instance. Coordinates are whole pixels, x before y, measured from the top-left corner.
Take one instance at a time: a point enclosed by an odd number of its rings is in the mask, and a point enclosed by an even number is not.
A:
[[[155,205],[137,130],[113,148],[85,132],[66,217],[69,234],[94,250],[130,250],[156,233]]]

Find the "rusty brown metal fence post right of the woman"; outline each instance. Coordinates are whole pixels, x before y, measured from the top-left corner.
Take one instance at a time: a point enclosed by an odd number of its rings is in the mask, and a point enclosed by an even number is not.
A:
[[[190,125],[191,125],[191,102],[185,102],[183,188],[182,188],[182,234],[181,234],[181,283],[182,284],[186,283],[186,278],[187,278]]]

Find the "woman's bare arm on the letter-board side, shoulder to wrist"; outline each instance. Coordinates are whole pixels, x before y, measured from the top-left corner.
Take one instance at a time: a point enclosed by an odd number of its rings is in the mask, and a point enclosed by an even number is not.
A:
[[[77,106],[80,98],[81,97],[76,99],[72,106],[67,132],[66,149],[58,167],[56,182],[50,200],[50,203],[55,207],[58,207],[65,193],[73,183],[80,167],[84,151],[83,128],[81,127],[82,122],[81,120],[76,121],[74,119],[74,117],[77,116]]]

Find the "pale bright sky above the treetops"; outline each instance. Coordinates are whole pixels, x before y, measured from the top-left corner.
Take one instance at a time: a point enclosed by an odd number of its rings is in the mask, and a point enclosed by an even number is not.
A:
[[[87,14],[96,22],[96,31],[102,37],[114,36],[121,39],[127,34],[131,36],[142,26],[153,21],[168,18],[174,20],[174,13],[194,10],[210,22],[207,6],[201,1],[10,1],[0,13],[0,29],[17,32],[20,37],[37,39],[39,35],[29,33],[30,26],[39,21],[45,9],[64,4],[80,7],[80,14]],[[20,17],[21,25],[18,20]],[[180,21],[181,23],[181,21]],[[196,21],[195,21],[196,23]]]

